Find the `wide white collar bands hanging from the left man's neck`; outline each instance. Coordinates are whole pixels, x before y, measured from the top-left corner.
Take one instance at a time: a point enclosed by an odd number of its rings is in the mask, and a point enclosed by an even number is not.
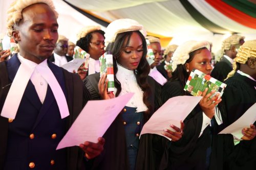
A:
[[[32,61],[29,61],[23,58],[20,55],[18,55],[18,59],[21,59],[20,60],[21,64],[17,70],[17,73],[11,84],[10,90],[7,94],[7,97],[1,112],[1,116],[11,118],[11,119],[15,118],[20,101],[22,100],[22,97],[28,85],[28,82],[34,70],[37,69],[37,71],[47,81],[47,83],[52,89],[54,98],[56,99],[56,102],[59,108],[61,118],[67,117],[69,115],[69,108],[66,101],[66,97],[58,81],[53,75],[53,72],[47,66],[47,60],[44,60],[40,64],[36,64]]]

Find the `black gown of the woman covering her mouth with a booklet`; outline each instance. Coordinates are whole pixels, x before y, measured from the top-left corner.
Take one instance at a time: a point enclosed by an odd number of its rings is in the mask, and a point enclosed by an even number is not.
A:
[[[167,82],[163,86],[161,93],[163,102],[178,95],[185,95],[179,81]],[[147,135],[148,140],[141,139],[141,142],[145,142],[144,145],[147,146],[147,149],[145,149],[146,152],[138,155],[145,155],[144,161],[141,162],[142,165],[138,169],[205,169],[206,167],[209,167],[209,169],[222,169],[222,157],[218,158],[217,155],[223,154],[222,151],[226,145],[232,145],[232,135],[222,135],[217,138],[213,124],[212,127],[206,127],[199,137],[202,122],[202,110],[197,105],[185,118],[184,134],[179,141],[170,142],[157,135]],[[212,137],[214,138],[212,139]],[[224,139],[226,143],[223,142]],[[217,142],[220,145],[218,152],[215,149]],[[211,156],[208,158],[207,165],[206,155],[209,155],[209,149],[211,149]],[[154,155],[161,157],[155,159]]]

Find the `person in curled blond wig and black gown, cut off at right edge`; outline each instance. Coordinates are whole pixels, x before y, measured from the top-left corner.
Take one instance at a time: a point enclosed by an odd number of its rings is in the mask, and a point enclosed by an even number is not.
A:
[[[256,40],[246,41],[234,62],[236,64],[225,81],[227,87],[219,105],[223,128],[235,122],[256,102]],[[255,169],[256,139],[240,141],[228,155],[224,168]]]

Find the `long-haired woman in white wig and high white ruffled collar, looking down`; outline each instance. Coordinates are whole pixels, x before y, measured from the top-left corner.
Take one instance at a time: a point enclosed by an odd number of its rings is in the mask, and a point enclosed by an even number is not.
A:
[[[134,92],[133,98],[103,135],[104,150],[94,159],[93,169],[135,169],[140,131],[148,118],[161,106],[160,85],[150,76],[146,61],[143,26],[132,19],[118,19],[106,28],[106,52],[113,54],[115,96]],[[106,75],[90,75],[85,85],[93,99],[110,99]],[[100,106],[99,106],[100,107]],[[178,140],[181,130],[165,133]],[[174,136],[172,136],[174,135]]]

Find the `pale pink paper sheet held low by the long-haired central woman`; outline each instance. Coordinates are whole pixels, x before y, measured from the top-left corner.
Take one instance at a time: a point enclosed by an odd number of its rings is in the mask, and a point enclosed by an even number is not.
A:
[[[163,130],[169,129],[175,132],[170,128],[170,124],[180,127],[180,120],[184,120],[201,99],[201,96],[186,95],[170,98],[151,116],[140,134],[152,133],[172,140],[162,134]]]

